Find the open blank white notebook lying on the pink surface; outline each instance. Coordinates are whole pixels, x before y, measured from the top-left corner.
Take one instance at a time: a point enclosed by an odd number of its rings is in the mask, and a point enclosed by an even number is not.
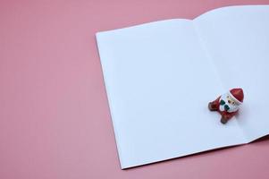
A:
[[[269,5],[215,9],[97,33],[122,168],[269,134]],[[228,124],[209,101],[240,87]]]

